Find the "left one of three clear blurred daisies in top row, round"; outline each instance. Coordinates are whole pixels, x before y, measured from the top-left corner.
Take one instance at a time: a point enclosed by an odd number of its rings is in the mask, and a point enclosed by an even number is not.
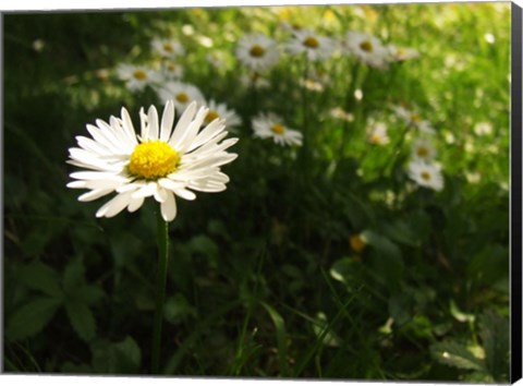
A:
[[[250,70],[257,72],[273,67],[280,53],[275,40],[263,34],[251,34],[238,43],[236,58]]]

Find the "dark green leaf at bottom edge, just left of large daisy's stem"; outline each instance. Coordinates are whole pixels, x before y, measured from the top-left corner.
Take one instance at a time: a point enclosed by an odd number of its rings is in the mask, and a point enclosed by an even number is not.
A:
[[[93,369],[100,374],[139,373],[142,353],[131,337],[113,343],[100,341],[92,345]]]

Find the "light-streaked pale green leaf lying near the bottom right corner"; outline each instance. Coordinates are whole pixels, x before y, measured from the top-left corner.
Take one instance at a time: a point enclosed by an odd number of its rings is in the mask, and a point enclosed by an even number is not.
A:
[[[474,357],[465,347],[454,341],[431,345],[430,354],[438,362],[453,367],[477,370],[481,372],[486,371],[482,360]]]

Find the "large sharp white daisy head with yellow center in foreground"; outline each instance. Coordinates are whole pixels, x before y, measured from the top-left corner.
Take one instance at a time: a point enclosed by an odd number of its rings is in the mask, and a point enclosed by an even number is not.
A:
[[[174,130],[174,104],[167,101],[161,122],[154,106],[147,114],[142,109],[141,134],[136,134],[131,117],[122,108],[121,118],[109,123],[87,124],[93,136],[77,136],[80,147],[69,149],[69,164],[87,169],[70,174],[76,181],[68,188],[88,189],[78,201],[86,202],[117,193],[104,204],[96,217],[113,217],[124,208],[137,210],[146,197],[160,203],[161,216],[172,221],[177,216],[174,196],[194,200],[193,191],[221,192],[229,177],[222,165],[236,154],[226,149],[238,138],[228,138],[224,120],[217,119],[200,130],[208,109],[192,102],[180,117]]]

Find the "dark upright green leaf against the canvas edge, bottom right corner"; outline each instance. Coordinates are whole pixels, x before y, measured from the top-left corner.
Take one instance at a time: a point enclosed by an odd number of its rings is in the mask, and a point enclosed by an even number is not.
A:
[[[479,319],[479,336],[485,349],[485,362],[496,382],[508,382],[509,374],[509,321],[485,311]]]

